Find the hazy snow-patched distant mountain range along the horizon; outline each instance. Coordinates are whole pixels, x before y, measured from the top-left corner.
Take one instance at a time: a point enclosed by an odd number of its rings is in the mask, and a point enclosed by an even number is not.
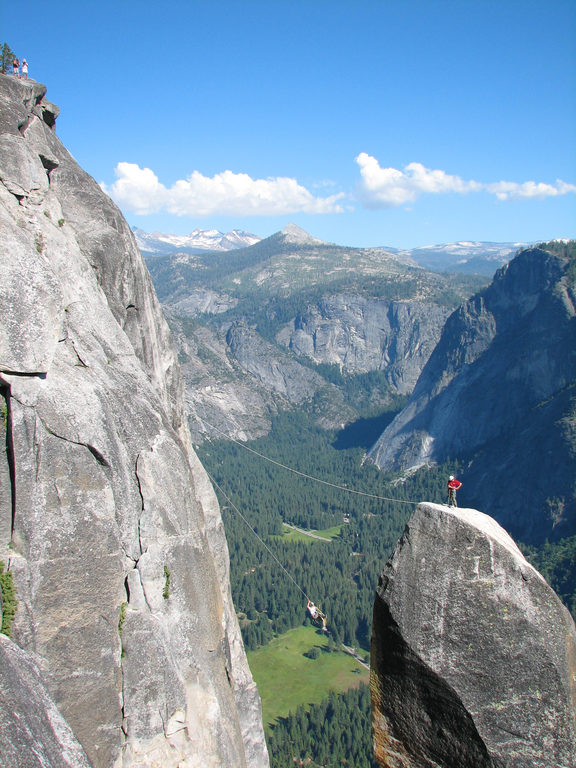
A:
[[[246,248],[261,241],[257,235],[234,229],[231,232],[219,232],[216,229],[195,229],[189,235],[171,235],[163,232],[148,234],[137,227],[133,228],[138,247],[148,259],[168,256],[174,253],[198,254],[206,251],[232,251]],[[283,230],[284,236],[292,243],[334,245],[323,243],[312,237],[295,224],[288,224]],[[268,238],[267,238],[268,239]],[[381,248],[362,249],[394,253],[405,261],[412,261],[425,269],[436,272],[462,272],[492,276],[497,269],[508,263],[513,256],[530,243],[493,243],[461,241],[444,245],[425,245],[419,248],[400,249],[383,246]]]

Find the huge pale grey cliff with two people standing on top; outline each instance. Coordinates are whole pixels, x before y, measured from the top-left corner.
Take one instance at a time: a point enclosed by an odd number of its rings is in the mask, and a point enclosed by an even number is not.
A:
[[[13,639],[93,768],[266,766],[219,508],[133,234],[60,144],[44,86],[0,76],[0,99]]]

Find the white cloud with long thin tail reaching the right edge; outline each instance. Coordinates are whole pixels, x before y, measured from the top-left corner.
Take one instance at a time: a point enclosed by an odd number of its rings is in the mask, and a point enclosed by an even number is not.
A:
[[[483,184],[466,181],[445,171],[431,170],[421,163],[410,163],[404,170],[382,168],[375,157],[361,152],[356,158],[362,181],[359,196],[367,208],[393,208],[413,203],[421,195],[466,194],[485,190],[500,200],[544,198],[576,192],[576,186],[558,179],[556,184],[527,181],[523,184],[499,181]]]

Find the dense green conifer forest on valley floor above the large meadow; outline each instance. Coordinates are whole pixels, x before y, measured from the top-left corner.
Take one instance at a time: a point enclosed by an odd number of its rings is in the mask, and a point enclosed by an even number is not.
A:
[[[340,444],[336,432],[319,429],[305,414],[291,413],[274,419],[271,435],[250,442],[250,450],[227,441],[200,449],[204,466],[226,494],[221,503],[232,589],[236,608],[246,617],[243,634],[248,648],[297,626],[306,615],[302,593],[258,537],[327,612],[334,640],[368,649],[374,588],[383,564],[414,505],[444,500],[446,467],[396,483],[374,466],[362,465],[362,447],[339,448]],[[262,456],[323,482],[294,474]],[[282,522],[309,530],[340,526],[340,533],[330,542],[291,541],[283,536]]]

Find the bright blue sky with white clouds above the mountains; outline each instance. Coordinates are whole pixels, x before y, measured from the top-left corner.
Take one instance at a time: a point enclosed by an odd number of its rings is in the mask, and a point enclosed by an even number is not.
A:
[[[573,0],[27,0],[0,25],[148,232],[576,235]]]

